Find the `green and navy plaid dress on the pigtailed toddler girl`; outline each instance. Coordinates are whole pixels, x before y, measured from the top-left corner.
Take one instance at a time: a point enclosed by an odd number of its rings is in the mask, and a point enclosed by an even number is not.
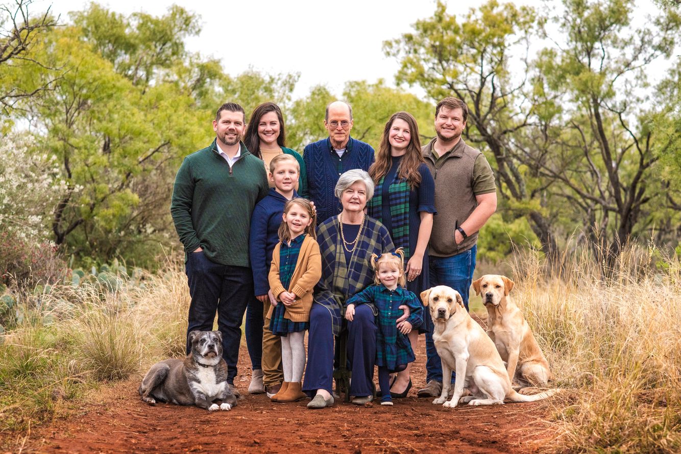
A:
[[[378,314],[378,333],[376,336],[376,366],[386,367],[390,372],[396,371],[398,366],[415,361],[416,357],[411,349],[407,335],[400,333],[396,321],[402,316],[399,308],[402,304],[409,306],[411,314],[407,321],[413,329],[418,329],[423,323],[423,305],[411,291],[398,285],[394,290],[388,290],[385,285],[371,285],[347,300],[346,304],[373,303]]]

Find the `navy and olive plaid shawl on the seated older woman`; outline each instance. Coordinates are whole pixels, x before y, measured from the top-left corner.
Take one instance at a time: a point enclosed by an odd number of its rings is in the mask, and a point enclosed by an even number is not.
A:
[[[366,216],[349,264],[345,262],[338,216],[328,218],[317,227],[317,242],[321,250],[321,280],[315,288],[315,303],[331,312],[334,336],[338,336],[343,326],[341,311],[345,300],[373,284],[371,255],[395,250],[395,246],[383,224],[370,216]],[[377,314],[375,307],[373,311]]]

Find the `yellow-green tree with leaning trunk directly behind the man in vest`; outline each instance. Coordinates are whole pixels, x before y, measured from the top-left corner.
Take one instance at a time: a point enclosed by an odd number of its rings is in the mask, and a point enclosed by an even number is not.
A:
[[[496,0],[459,20],[439,1],[431,18],[417,20],[413,33],[385,42],[384,49],[400,61],[398,82],[421,86],[436,102],[452,95],[466,101],[465,139],[493,158],[507,221],[527,215],[545,253],[554,255],[545,188],[511,153],[514,135],[528,127],[533,113],[523,93],[524,56],[541,22],[530,7]],[[514,77],[511,60],[519,54],[520,77]]]

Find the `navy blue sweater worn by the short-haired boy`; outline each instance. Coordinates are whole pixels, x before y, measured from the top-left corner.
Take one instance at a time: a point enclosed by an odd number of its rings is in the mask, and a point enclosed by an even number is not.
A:
[[[298,193],[294,191],[294,197]],[[253,270],[253,284],[255,295],[265,295],[270,289],[268,275],[272,265],[272,251],[279,242],[279,226],[281,215],[287,198],[270,188],[270,192],[259,201],[251,216],[251,235],[249,236],[249,255],[251,256],[251,270]]]

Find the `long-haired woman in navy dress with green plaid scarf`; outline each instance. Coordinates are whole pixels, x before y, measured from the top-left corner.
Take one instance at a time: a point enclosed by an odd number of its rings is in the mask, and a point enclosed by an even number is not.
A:
[[[405,251],[407,289],[420,295],[430,288],[428,240],[435,213],[435,183],[421,152],[419,129],[408,112],[396,112],[385,123],[376,162],[369,174],[376,184],[368,204],[369,216],[381,221],[390,231],[397,248]],[[430,317],[425,315],[426,323]],[[416,347],[422,329],[412,331],[409,340]],[[411,364],[397,374],[391,391],[393,398],[405,398],[411,389]]]

